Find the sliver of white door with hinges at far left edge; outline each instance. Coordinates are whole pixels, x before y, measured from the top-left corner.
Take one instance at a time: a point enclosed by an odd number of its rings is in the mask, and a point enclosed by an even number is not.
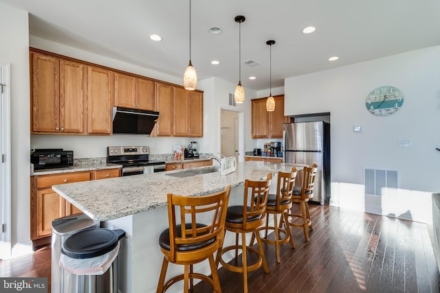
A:
[[[0,67],[0,259],[11,257],[10,65]]]

